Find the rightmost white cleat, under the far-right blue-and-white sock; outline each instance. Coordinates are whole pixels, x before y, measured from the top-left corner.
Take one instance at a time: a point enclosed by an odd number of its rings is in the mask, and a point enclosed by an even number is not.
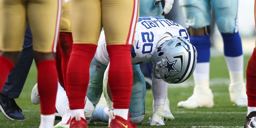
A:
[[[248,105],[246,86],[244,82],[229,85],[230,101],[238,107],[246,107]]]

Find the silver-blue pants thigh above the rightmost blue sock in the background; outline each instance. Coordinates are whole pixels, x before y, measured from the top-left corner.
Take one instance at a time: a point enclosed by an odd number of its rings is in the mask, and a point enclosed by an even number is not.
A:
[[[216,23],[221,33],[237,30],[238,0],[211,0]]]

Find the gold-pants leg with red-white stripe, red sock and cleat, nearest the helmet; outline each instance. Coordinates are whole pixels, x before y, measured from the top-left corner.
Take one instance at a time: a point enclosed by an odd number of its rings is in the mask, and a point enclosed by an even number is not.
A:
[[[132,91],[130,50],[134,41],[137,18],[138,0],[102,0],[102,24],[110,56],[108,83],[112,92],[115,114],[110,128],[120,125],[117,120],[130,125],[128,123],[130,122],[128,108]]]

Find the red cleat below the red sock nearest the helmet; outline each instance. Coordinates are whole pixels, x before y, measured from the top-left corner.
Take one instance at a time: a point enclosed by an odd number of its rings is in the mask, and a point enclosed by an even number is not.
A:
[[[124,118],[116,116],[115,119],[111,120],[109,128],[137,128],[137,124],[131,122],[129,119],[124,120]]]

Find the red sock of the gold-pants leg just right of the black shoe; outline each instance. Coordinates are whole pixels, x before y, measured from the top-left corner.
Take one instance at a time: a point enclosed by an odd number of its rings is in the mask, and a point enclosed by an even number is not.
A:
[[[36,63],[38,70],[38,93],[40,95],[41,114],[55,113],[55,101],[58,85],[56,60],[43,60]]]

